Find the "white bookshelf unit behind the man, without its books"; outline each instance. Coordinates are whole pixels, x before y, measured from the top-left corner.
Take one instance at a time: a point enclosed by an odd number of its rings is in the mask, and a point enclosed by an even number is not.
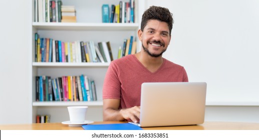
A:
[[[129,0],[122,0],[127,2]],[[63,5],[75,5],[77,22],[35,22],[35,0],[32,0],[32,38],[30,59],[32,74],[31,79],[31,120],[36,122],[37,114],[50,114],[51,122],[69,120],[67,106],[87,105],[87,119],[102,121],[102,85],[109,62],[35,62],[35,36],[48,37],[62,41],[89,41],[95,45],[100,41],[110,41],[114,59],[117,58],[119,46],[123,45],[123,39],[133,35],[137,40],[137,30],[144,11],[144,0],[135,0],[134,23],[102,23],[102,4],[118,4],[119,0],[62,0]],[[140,45],[138,45],[140,46]],[[139,48],[137,48],[137,51]],[[85,74],[95,80],[96,101],[36,101],[36,76],[48,75],[56,78],[64,75]]]

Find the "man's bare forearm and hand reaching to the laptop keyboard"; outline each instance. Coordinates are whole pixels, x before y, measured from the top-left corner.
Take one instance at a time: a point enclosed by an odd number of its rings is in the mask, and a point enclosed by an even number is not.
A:
[[[131,119],[134,122],[139,120],[140,106],[120,109],[120,99],[103,99],[103,120],[124,121]]]

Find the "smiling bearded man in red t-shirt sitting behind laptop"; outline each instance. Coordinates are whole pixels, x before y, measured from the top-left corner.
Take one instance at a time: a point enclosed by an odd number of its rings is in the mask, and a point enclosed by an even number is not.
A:
[[[140,117],[140,91],[143,82],[188,81],[184,67],[162,57],[171,39],[172,13],[151,6],[142,15],[141,51],[113,60],[103,86],[104,121],[134,121]],[[155,103],[155,102],[154,102]]]

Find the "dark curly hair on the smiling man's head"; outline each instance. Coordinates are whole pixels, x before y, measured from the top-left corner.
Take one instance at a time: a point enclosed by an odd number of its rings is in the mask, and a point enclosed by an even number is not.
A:
[[[169,34],[171,35],[171,30],[173,28],[173,17],[172,13],[168,8],[160,7],[160,6],[150,6],[142,15],[141,27],[140,29],[143,31],[144,27],[147,24],[149,19],[156,19],[159,21],[166,22],[169,28]]]

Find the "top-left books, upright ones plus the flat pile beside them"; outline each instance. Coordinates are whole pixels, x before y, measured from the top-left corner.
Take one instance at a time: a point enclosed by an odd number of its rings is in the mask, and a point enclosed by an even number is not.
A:
[[[74,5],[61,0],[35,0],[35,22],[76,22]]]

